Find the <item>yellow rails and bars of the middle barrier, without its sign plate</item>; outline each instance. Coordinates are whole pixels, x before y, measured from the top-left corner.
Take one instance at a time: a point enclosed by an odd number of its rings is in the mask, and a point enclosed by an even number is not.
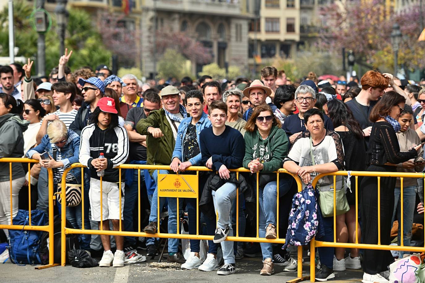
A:
[[[68,173],[69,170],[73,169],[73,168],[84,168],[85,166],[80,164],[80,163],[74,163],[73,165],[71,165],[71,167],[65,169],[63,176],[62,176],[62,199],[66,199],[65,196],[65,177]],[[170,166],[166,166],[166,165],[136,165],[136,164],[122,164],[119,167],[116,168],[117,170],[119,170],[119,188],[121,190],[121,170],[122,169],[135,169],[138,170],[138,182],[139,182],[139,199],[140,199],[140,170],[143,169],[155,169],[158,170],[171,170]],[[197,177],[198,176],[198,172],[199,171],[211,171],[210,169],[208,169],[207,167],[201,167],[201,166],[191,166],[189,168],[186,169],[187,171],[197,171],[196,175],[191,175],[193,177]],[[237,172],[237,177],[239,172],[249,172],[248,169],[246,168],[238,168],[238,169],[232,169],[230,171],[233,172]],[[289,173],[288,171],[284,170],[284,169],[279,169],[278,171],[275,172],[278,176],[279,174],[289,174],[291,175],[295,181],[297,182],[297,188],[298,191],[302,190],[302,183],[299,179],[298,176]],[[174,175],[176,176],[176,175]],[[188,175],[184,175],[185,177]],[[160,174],[158,174],[158,182],[160,182]],[[186,182],[186,181],[184,181]],[[277,187],[279,187],[279,178],[277,178]],[[196,183],[196,198],[198,199],[198,183]],[[82,191],[84,191],[84,174],[82,174]],[[277,231],[277,238],[276,239],[266,239],[266,238],[259,238],[258,237],[258,214],[259,214],[259,206],[258,206],[258,174],[257,174],[257,210],[256,210],[256,214],[257,214],[257,237],[239,237],[239,227],[238,227],[238,205],[239,202],[236,201],[236,236],[229,236],[227,237],[228,241],[244,241],[244,242],[268,242],[268,243],[279,243],[279,244],[284,244],[285,243],[285,239],[284,238],[279,238],[279,190],[277,190],[278,195],[277,195],[277,219],[276,219],[276,231]],[[100,185],[100,194],[102,195],[102,177],[101,177],[101,185]],[[158,204],[159,204],[159,197],[164,197],[167,196],[165,193],[158,193]],[[239,189],[237,190],[237,199],[239,196]],[[175,194],[171,194],[168,197],[176,197]],[[187,197],[187,196],[183,196],[183,197]],[[291,196],[292,198],[292,196]],[[120,213],[121,213],[121,194],[120,194]],[[100,197],[100,213],[101,213],[101,227],[103,224],[103,215],[102,215],[102,197]],[[65,257],[66,257],[66,245],[65,245],[65,237],[66,234],[94,234],[94,235],[119,235],[119,236],[135,236],[135,237],[156,237],[156,238],[179,238],[179,239],[197,239],[197,240],[212,240],[214,238],[213,235],[199,235],[199,231],[198,229],[196,230],[196,235],[182,235],[180,234],[180,231],[177,227],[177,233],[176,234],[170,234],[170,233],[161,233],[159,231],[159,211],[158,211],[158,232],[156,234],[147,234],[142,232],[141,227],[140,227],[140,202],[138,205],[138,213],[139,213],[139,219],[138,219],[138,231],[137,232],[130,232],[130,231],[122,231],[122,225],[121,225],[121,217],[119,218],[119,231],[113,231],[113,230],[86,230],[84,228],[84,193],[82,193],[82,229],[71,229],[68,227],[65,227],[65,223],[66,223],[66,207],[65,205],[62,205],[62,266],[65,266]],[[159,210],[159,207],[158,207]],[[199,207],[197,208],[197,216],[199,216]],[[120,214],[121,215],[121,214]],[[177,217],[178,217],[178,199],[177,199]],[[177,221],[177,225],[178,225],[179,221]],[[295,283],[295,282],[299,282],[299,281],[303,281],[308,279],[309,277],[303,277],[302,275],[302,247],[298,247],[298,271],[297,271],[297,278],[294,280],[291,280],[289,282]]]

